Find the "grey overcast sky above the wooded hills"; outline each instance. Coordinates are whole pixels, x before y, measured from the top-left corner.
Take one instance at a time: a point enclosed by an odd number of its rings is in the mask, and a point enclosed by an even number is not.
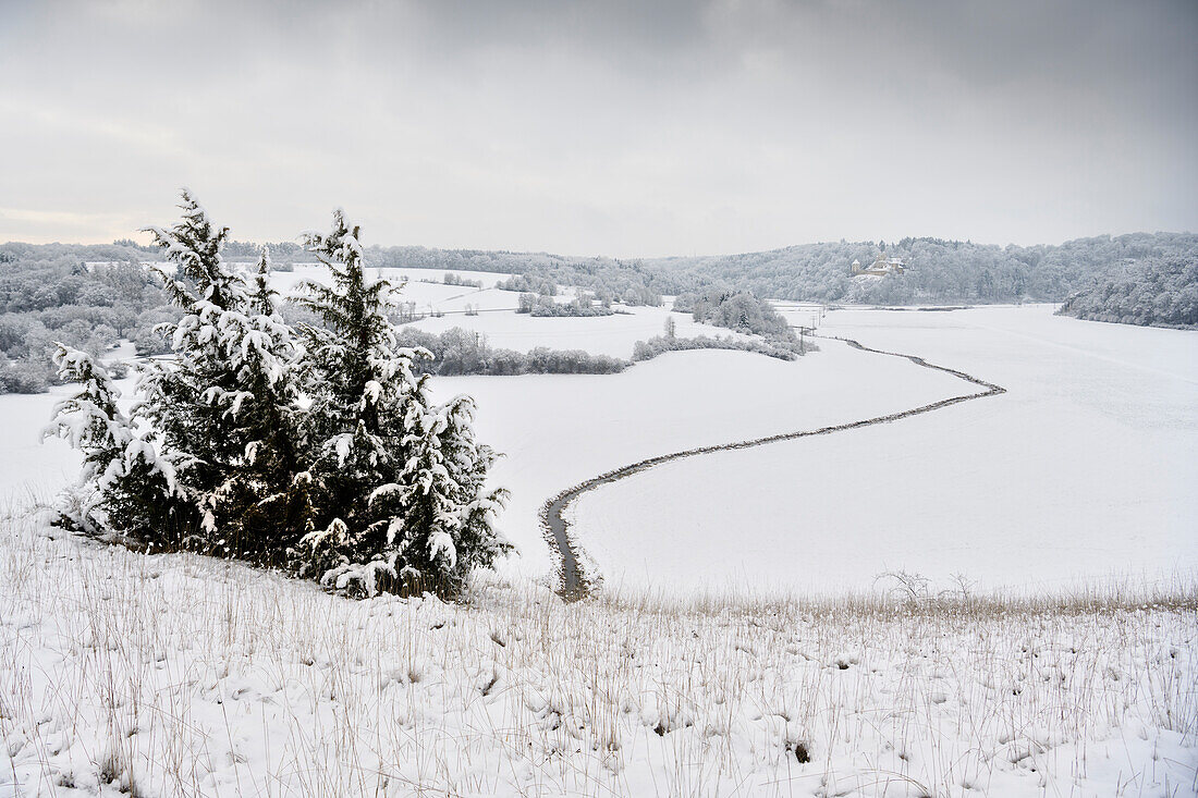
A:
[[[0,241],[618,256],[1198,229],[1198,2],[0,0]]]

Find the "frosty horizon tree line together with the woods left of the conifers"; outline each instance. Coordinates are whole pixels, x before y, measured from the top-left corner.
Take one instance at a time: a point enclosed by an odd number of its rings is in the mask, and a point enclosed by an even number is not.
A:
[[[290,264],[316,262],[296,242],[270,244],[276,271]],[[225,243],[231,261],[253,261],[261,247],[243,241]],[[903,274],[854,278],[851,264],[870,264],[879,255],[902,258]],[[159,250],[119,240],[111,244],[0,244],[0,393],[36,392],[54,380],[52,340],[61,340],[99,356],[119,339],[133,340],[139,355],[165,351],[157,325],[177,319],[179,310],[146,270]],[[1198,258],[1198,235],[1136,232],[1077,238],[1063,244],[1031,247],[978,244],[943,238],[902,238],[878,242],[825,242],[758,253],[718,256],[622,260],[547,253],[429,249],[425,247],[363,247],[369,268],[482,271],[513,274],[504,288],[547,294],[557,285],[575,285],[594,294],[600,306],[661,303],[661,296],[704,292],[746,292],[757,297],[825,303],[986,304],[1064,302],[1073,294],[1103,291],[1111,297],[1136,294],[1135,308],[1100,310],[1075,301],[1078,313],[1105,319],[1164,321],[1178,314],[1148,313],[1136,280],[1151,270],[1142,264]],[[91,264],[91,266],[87,266]],[[96,266],[101,264],[101,266]],[[1191,286],[1184,272],[1174,294]],[[1106,288],[1118,284],[1117,288]],[[1170,283],[1173,285],[1173,283]],[[551,288],[552,286],[552,288]],[[1131,300],[1129,300],[1131,301]],[[1157,308],[1166,300],[1154,295]],[[1084,309],[1083,304],[1085,306]],[[547,307],[547,306],[546,306]],[[530,307],[530,309],[532,309]],[[294,313],[284,308],[286,314]],[[556,310],[556,308],[555,308]],[[1184,315],[1184,314],[1182,314]]]

